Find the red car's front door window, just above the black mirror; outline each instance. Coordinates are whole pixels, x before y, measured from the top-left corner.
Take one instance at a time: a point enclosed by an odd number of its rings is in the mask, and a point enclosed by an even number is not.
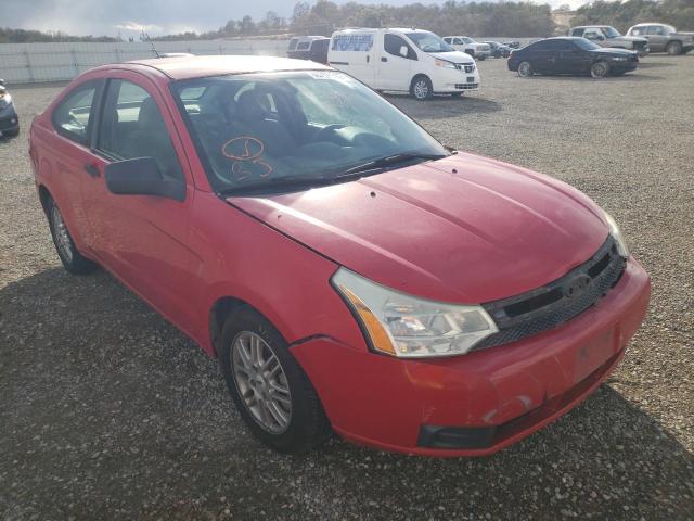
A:
[[[125,79],[108,82],[97,148],[116,161],[154,157],[163,175],[183,179],[156,101]]]

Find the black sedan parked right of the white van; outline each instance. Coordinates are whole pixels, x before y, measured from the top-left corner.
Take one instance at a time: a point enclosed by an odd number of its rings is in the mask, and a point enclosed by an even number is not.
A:
[[[573,74],[593,78],[621,76],[639,65],[639,55],[625,49],[607,49],[586,38],[547,38],[509,56],[509,71],[527,78],[534,74]]]

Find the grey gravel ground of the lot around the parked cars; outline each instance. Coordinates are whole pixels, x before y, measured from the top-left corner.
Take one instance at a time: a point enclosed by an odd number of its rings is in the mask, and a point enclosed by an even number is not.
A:
[[[694,519],[694,54],[600,81],[479,66],[484,89],[461,100],[391,100],[621,224],[653,301],[607,383],[488,458],[337,439],[274,454],[245,432],[215,360],[108,275],[61,269],[24,131],[0,140],[0,518]],[[61,87],[13,89],[25,130]]]

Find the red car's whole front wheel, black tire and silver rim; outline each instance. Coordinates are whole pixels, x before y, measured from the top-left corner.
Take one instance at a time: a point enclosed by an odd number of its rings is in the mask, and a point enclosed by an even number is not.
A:
[[[330,422],[313,385],[262,315],[247,306],[232,312],[218,354],[229,393],[256,439],[281,453],[301,454],[329,437]],[[258,360],[268,364],[265,370],[258,370]]]

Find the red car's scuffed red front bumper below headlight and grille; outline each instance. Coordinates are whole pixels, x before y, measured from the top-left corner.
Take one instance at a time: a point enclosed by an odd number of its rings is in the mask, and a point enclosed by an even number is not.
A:
[[[631,258],[596,305],[512,344],[402,360],[321,336],[293,346],[292,353],[345,439],[408,454],[483,456],[537,431],[591,394],[624,356],[650,294],[648,276]],[[432,446],[432,433],[461,428],[485,430],[484,440],[465,448]]]

